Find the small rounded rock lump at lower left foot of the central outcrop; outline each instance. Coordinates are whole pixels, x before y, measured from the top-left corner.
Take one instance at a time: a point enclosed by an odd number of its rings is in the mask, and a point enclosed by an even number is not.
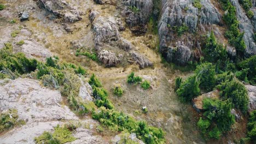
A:
[[[106,67],[114,67],[120,60],[115,56],[115,53],[109,52],[107,50],[102,50],[98,53],[98,59],[106,65]]]

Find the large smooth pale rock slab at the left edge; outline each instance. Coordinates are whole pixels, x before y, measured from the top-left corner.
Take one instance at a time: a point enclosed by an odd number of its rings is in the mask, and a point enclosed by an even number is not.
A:
[[[36,80],[19,78],[0,86],[0,99],[0,111],[17,109],[26,123],[78,119],[67,106],[60,105],[60,92],[41,87]]]

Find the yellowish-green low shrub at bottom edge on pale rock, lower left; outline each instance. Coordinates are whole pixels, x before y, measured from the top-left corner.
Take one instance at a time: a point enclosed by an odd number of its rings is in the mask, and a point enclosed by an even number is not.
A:
[[[75,140],[75,137],[72,136],[72,131],[69,131],[66,125],[54,128],[54,133],[51,134],[48,131],[44,131],[44,133],[38,137],[34,137],[35,143],[67,143]]]

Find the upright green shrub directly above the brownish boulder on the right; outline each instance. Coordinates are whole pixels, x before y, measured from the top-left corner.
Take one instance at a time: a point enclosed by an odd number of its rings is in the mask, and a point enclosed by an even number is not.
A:
[[[199,87],[207,91],[212,91],[215,84],[215,66],[212,63],[197,65],[195,73],[201,75]]]

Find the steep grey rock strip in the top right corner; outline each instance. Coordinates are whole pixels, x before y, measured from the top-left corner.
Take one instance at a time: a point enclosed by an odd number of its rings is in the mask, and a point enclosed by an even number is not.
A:
[[[249,57],[252,55],[256,55],[256,44],[254,43],[254,32],[253,32],[253,25],[251,21],[248,19],[246,14],[243,12],[238,0],[231,0],[232,5],[236,8],[236,16],[237,20],[239,21],[239,28],[243,34],[243,40],[246,44],[245,56]]]

